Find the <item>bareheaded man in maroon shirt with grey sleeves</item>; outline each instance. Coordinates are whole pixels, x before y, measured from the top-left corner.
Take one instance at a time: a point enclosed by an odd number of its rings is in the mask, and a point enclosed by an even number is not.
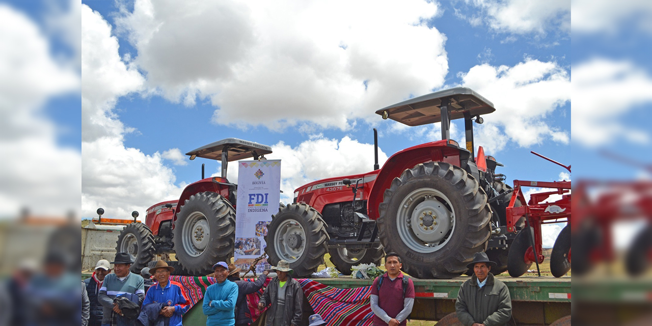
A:
[[[374,326],[405,326],[414,305],[414,283],[401,273],[401,258],[395,252],[385,255],[387,273],[378,276],[371,288]]]

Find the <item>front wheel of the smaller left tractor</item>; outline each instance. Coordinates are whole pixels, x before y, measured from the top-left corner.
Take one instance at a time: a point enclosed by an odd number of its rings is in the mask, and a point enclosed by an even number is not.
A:
[[[118,236],[116,252],[126,252],[134,263],[130,271],[140,274],[140,270],[154,258],[154,235],[145,224],[134,222],[127,224]]]

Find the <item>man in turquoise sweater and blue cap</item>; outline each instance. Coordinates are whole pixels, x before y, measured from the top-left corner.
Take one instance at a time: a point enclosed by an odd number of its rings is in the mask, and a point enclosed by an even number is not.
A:
[[[238,297],[238,286],[227,279],[229,265],[220,261],[213,265],[216,283],[209,286],[204,293],[202,304],[206,315],[206,326],[235,325],[235,302]]]

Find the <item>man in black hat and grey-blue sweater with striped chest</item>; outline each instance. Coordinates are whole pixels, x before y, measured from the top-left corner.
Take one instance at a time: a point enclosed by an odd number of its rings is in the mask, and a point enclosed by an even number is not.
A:
[[[113,302],[113,299],[126,297],[140,306],[145,299],[143,278],[129,271],[134,262],[126,252],[115,254],[115,261],[111,261],[111,263],[115,273],[104,277],[104,282],[102,282],[102,287],[97,295],[98,301],[104,307],[102,325],[133,325],[135,321],[124,318],[123,312],[118,304]]]

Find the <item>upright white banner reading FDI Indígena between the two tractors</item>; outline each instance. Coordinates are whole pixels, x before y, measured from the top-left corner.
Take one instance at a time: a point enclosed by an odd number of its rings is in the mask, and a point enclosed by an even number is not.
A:
[[[246,271],[265,252],[265,235],[272,215],[278,212],[281,161],[238,162],[238,195],[235,210],[235,265]],[[256,273],[269,269],[259,261]]]

